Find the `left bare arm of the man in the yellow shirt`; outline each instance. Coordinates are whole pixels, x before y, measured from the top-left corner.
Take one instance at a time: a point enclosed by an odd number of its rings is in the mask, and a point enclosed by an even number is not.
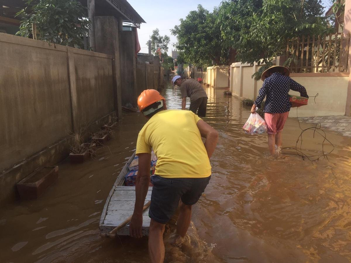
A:
[[[129,226],[131,237],[142,237],[141,227],[143,226],[143,207],[145,197],[150,183],[150,160],[151,154],[139,154],[139,171],[135,182],[135,206],[132,220]]]

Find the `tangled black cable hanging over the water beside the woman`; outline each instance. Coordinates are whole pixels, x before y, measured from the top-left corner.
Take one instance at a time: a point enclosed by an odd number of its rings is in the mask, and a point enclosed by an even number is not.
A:
[[[316,103],[316,97],[318,96],[318,93],[316,94],[316,96],[311,96],[311,97],[314,97],[314,103]],[[300,125],[300,120],[299,120],[299,117],[298,117],[298,114],[296,112],[296,117],[297,117],[297,121],[299,123],[299,127],[300,129],[302,130],[301,133],[300,133],[300,136],[298,137],[297,141],[296,141],[296,147],[295,148],[292,148],[292,147],[285,147],[285,148],[282,148],[279,153],[282,153],[282,154],[289,154],[289,155],[297,155],[297,156],[301,156],[303,160],[307,159],[311,162],[318,162],[319,158],[320,157],[324,157],[326,158],[328,161],[328,155],[335,149],[334,145],[326,138],[326,134],[325,134],[325,131],[321,128],[321,124],[320,123],[317,123],[315,126],[312,126],[312,127],[309,127],[307,129],[303,129],[301,128],[301,125]],[[305,131],[307,130],[313,130],[313,138],[315,136],[316,133],[318,133],[320,136],[322,136],[324,138],[323,142],[322,142],[322,153],[323,154],[316,154],[316,155],[307,155],[305,153],[303,153],[302,151],[302,143],[303,143],[303,139],[302,139],[302,135],[304,134]],[[300,141],[300,145],[298,146],[298,143]],[[331,151],[329,151],[328,153],[325,153],[324,152],[324,143],[329,143],[333,148]],[[284,149],[293,149],[296,151],[296,153],[283,153],[282,150]],[[333,170],[332,170],[333,172]],[[334,173],[333,173],[334,174]]]

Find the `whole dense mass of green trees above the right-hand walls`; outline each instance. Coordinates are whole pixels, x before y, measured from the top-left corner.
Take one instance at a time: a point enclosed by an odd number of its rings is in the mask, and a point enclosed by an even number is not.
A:
[[[225,0],[213,12],[198,5],[171,30],[189,63],[227,65],[231,52],[235,61],[267,67],[285,54],[286,39],[332,32],[321,0]]]

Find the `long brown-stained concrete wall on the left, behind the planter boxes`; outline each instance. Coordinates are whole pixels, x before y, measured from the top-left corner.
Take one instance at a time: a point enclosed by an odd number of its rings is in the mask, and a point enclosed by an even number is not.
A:
[[[112,56],[0,33],[0,203],[39,166],[67,157],[70,133],[115,115]]]

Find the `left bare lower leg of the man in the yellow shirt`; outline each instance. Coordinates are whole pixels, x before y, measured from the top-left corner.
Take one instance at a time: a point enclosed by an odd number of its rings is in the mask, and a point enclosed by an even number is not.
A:
[[[151,219],[149,230],[148,249],[151,262],[162,263],[165,259],[165,245],[163,243],[165,224],[158,223]]]

